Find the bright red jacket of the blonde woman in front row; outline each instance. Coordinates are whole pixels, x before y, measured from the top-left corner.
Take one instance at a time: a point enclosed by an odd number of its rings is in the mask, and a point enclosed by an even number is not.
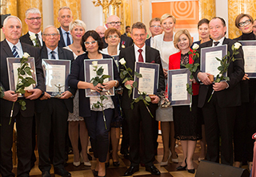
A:
[[[190,52],[193,53],[193,49],[190,49]],[[181,56],[182,51],[178,53],[174,53],[170,55],[169,57],[169,69],[181,69]],[[189,63],[193,63],[193,59],[190,55],[189,57]],[[198,95],[199,92],[199,84],[198,83],[192,83],[192,89],[193,89],[193,95]]]

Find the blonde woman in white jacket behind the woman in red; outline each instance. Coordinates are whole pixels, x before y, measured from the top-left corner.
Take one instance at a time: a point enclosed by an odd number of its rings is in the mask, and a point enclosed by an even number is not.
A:
[[[174,16],[171,14],[163,14],[160,18],[160,25],[162,26],[163,33],[154,37],[153,48],[158,49],[160,52],[162,68],[166,79],[169,56],[178,52],[178,49],[174,48],[175,23],[176,18],[174,18]],[[164,150],[160,165],[166,166],[170,159],[172,162],[178,163],[178,155],[175,152],[173,108],[163,108],[160,106],[156,112],[156,120],[161,122]]]

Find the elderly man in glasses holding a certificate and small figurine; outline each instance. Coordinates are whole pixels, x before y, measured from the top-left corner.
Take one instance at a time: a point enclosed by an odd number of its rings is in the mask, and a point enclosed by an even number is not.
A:
[[[72,52],[58,47],[60,35],[57,28],[47,26],[43,31],[42,39],[46,44],[40,51],[42,59],[50,58],[74,61]],[[50,97],[50,94],[45,92],[44,96],[36,102],[38,167],[42,171],[43,177],[50,177],[49,141],[51,131],[54,136],[54,173],[61,176],[71,176],[64,168],[64,163],[68,112],[73,112],[73,100],[71,100],[70,96],[74,95],[74,92],[70,88],[62,92],[62,96],[59,98]]]

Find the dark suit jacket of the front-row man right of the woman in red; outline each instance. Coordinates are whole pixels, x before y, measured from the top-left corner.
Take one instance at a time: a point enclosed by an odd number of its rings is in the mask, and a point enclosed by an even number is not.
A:
[[[229,38],[225,38],[223,41],[223,45],[227,45],[228,51],[230,52],[230,56],[233,51],[231,49],[232,45],[234,45],[235,41]],[[199,53],[201,53],[201,49],[204,47],[211,47],[213,45],[213,41],[207,41],[202,43],[198,49]],[[234,55],[234,58],[237,58],[236,61],[231,61],[230,66],[227,71],[227,76],[230,77],[230,81],[227,81],[229,88],[226,88],[222,91],[214,92],[218,98],[218,105],[221,108],[225,107],[234,107],[241,104],[241,93],[240,93],[240,82],[242,77],[244,76],[244,59],[242,48],[238,49],[238,54]],[[195,61],[199,63],[200,57]],[[197,71],[194,73],[194,78],[198,81],[198,73],[200,67],[198,67]],[[209,90],[212,89],[212,85],[200,85],[199,88],[199,96],[198,96],[198,107],[202,108],[206,103],[206,99],[209,99]],[[207,96],[208,95],[208,96]],[[207,98],[206,98],[207,97]]]

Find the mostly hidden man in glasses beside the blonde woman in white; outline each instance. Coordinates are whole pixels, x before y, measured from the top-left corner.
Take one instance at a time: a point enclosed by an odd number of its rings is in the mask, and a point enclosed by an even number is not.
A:
[[[146,39],[145,44],[148,46],[153,46],[154,36],[162,33],[160,18],[152,18],[150,20],[150,33],[151,33],[151,37]]]

